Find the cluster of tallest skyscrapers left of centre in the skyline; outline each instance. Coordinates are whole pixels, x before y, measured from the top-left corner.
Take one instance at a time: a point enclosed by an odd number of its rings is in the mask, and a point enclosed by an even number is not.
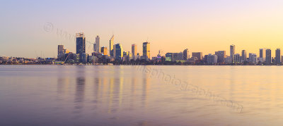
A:
[[[151,61],[150,43],[142,44],[142,55],[137,53],[137,44],[132,44],[132,51],[124,51],[122,44],[114,43],[114,35],[110,38],[109,49],[106,46],[100,46],[100,37],[96,36],[96,42],[93,44],[93,52],[86,53],[86,37],[83,32],[76,34],[76,53],[64,49],[64,45],[58,45],[57,61],[69,64],[96,64],[96,63],[115,63],[130,61]]]

